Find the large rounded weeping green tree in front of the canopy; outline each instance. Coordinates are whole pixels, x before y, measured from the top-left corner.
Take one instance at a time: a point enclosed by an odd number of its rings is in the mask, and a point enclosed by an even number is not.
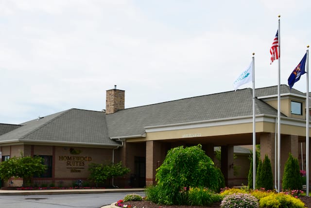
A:
[[[180,204],[181,192],[190,187],[207,187],[219,191],[224,185],[224,176],[217,170],[202,146],[176,147],[168,151],[163,164],[156,170],[157,185],[149,189],[148,198],[155,203]]]

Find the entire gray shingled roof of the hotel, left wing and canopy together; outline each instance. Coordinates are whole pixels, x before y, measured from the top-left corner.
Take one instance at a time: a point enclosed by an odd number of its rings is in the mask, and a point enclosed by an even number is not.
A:
[[[290,90],[287,85],[281,85],[280,90],[281,94],[305,95],[295,89]],[[256,89],[257,96],[276,94],[277,86]],[[147,126],[251,116],[252,97],[252,89],[246,88],[128,108],[107,115],[97,111],[69,109],[22,123],[21,127],[0,135],[0,142],[65,142],[117,146],[120,143],[109,137],[143,135]],[[255,105],[256,114],[277,115],[276,109],[260,99],[256,98]]]

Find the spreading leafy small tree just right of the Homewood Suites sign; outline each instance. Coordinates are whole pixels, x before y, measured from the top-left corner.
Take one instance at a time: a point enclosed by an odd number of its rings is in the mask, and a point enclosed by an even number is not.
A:
[[[113,164],[96,164],[91,163],[88,166],[90,171],[89,179],[94,183],[104,183],[105,180],[112,177],[122,176],[130,172],[129,168],[123,167],[122,162]]]

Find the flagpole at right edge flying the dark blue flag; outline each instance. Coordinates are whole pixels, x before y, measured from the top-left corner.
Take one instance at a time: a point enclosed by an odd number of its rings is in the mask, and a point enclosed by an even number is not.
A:
[[[309,196],[309,45],[307,46],[307,90],[306,90],[306,195]]]

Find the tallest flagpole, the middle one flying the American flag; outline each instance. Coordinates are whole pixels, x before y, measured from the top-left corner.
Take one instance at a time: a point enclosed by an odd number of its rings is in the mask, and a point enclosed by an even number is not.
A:
[[[278,16],[278,62],[277,62],[277,192],[280,192],[280,169],[281,169],[281,103],[280,103],[280,53],[281,53],[281,33],[280,33],[280,15]]]

